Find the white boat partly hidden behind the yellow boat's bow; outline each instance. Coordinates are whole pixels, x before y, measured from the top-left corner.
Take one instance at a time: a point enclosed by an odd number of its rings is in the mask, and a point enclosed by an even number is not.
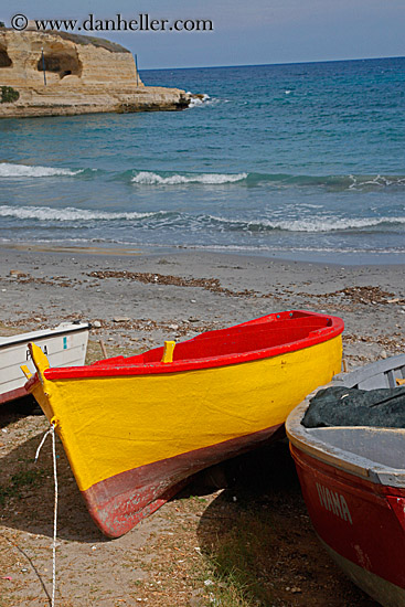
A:
[[[0,337],[0,405],[28,395],[21,365],[35,372],[30,341],[42,349],[51,366],[79,366],[86,358],[90,327],[89,322],[62,322],[54,329]]]

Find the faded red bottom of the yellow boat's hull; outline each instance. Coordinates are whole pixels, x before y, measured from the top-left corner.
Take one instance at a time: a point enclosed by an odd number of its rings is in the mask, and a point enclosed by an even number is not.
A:
[[[103,533],[119,537],[170,500],[195,472],[259,447],[270,437],[276,439],[274,435],[280,428],[284,424],[127,470],[82,494]]]

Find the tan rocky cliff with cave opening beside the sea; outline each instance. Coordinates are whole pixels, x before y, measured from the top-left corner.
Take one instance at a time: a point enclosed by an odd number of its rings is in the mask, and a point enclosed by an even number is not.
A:
[[[0,103],[0,117],[175,110],[190,103],[184,90],[145,86],[124,46],[65,32],[1,29],[4,86],[19,98]]]

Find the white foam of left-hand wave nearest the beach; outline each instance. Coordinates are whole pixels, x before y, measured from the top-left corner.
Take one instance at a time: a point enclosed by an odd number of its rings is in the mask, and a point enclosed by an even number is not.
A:
[[[51,209],[49,206],[0,206],[0,217],[17,217],[19,220],[40,220],[72,222],[79,220],[140,220],[159,215],[157,213],[108,213],[102,211],[88,211],[86,209]]]

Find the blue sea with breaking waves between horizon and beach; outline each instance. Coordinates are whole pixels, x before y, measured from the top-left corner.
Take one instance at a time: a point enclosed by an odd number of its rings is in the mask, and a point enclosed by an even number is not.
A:
[[[0,242],[405,262],[405,58],[141,77],[207,97],[0,121]]]

